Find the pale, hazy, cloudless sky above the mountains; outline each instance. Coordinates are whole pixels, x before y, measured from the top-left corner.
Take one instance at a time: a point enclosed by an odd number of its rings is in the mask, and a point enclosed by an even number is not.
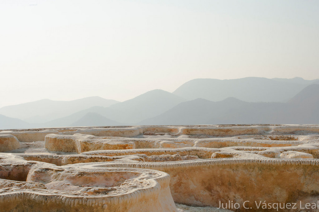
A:
[[[0,107],[319,78],[319,1],[1,0]]]

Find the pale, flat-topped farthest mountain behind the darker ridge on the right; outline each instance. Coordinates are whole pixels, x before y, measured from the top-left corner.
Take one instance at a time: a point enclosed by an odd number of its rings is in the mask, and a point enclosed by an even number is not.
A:
[[[247,77],[241,79],[193,79],[173,93],[185,99],[203,98],[221,101],[228,97],[247,102],[285,102],[310,84],[319,84],[319,80],[267,79]]]

